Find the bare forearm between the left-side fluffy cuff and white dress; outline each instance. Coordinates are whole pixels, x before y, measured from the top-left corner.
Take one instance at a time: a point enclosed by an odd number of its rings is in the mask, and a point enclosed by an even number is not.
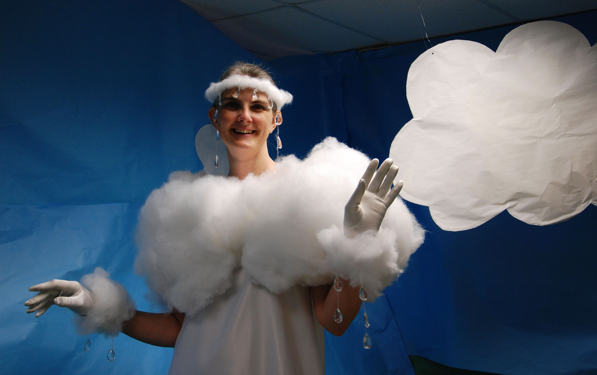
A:
[[[184,314],[176,310],[165,314],[137,311],[122,324],[122,333],[144,343],[174,348],[183,320]]]

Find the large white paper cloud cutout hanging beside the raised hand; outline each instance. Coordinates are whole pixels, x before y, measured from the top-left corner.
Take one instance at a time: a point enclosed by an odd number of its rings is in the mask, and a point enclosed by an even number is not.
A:
[[[390,148],[396,180],[442,229],[504,209],[554,224],[597,204],[597,45],[574,27],[525,24],[497,52],[436,45],[411,65],[407,98],[414,118]]]

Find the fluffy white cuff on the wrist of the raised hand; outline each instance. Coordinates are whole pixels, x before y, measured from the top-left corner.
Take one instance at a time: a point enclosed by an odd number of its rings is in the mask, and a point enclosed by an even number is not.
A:
[[[365,232],[353,238],[344,236],[342,228],[331,226],[317,234],[328,265],[337,276],[350,280],[353,287],[362,285],[369,301],[374,301],[402,270],[398,267],[396,232],[381,228],[378,233]]]

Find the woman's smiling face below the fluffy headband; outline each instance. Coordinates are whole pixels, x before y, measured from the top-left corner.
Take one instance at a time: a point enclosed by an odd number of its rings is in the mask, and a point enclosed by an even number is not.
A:
[[[268,108],[267,94],[260,92],[259,98],[253,99],[253,89],[247,87],[238,98],[233,98],[232,93],[237,90],[233,87],[221,94],[217,118],[214,119],[215,108],[209,112],[212,124],[220,131],[221,140],[231,155],[267,152],[267,136],[276,128],[275,113]]]

